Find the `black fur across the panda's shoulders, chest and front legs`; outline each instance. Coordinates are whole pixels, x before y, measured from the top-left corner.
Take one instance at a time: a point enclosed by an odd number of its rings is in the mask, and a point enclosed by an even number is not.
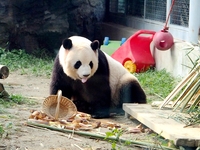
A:
[[[71,99],[78,111],[92,114],[94,118],[109,117],[111,91],[109,86],[109,68],[104,53],[99,51],[99,67],[86,83],[68,77],[59,63],[59,56],[55,59],[50,94],[55,95],[62,90],[63,96]]]

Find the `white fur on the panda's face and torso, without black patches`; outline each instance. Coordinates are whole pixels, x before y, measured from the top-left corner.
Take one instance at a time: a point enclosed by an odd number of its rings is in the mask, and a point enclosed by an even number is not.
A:
[[[72,40],[72,48],[70,50],[64,49],[61,46],[59,51],[59,61],[63,67],[65,74],[74,80],[87,80],[89,79],[98,68],[98,52],[94,52],[91,47],[91,41],[78,36],[73,36],[70,38]],[[123,84],[130,81],[137,81],[127,69],[122,66],[121,63],[110,57],[108,54],[104,53],[109,65],[109,84],[111,88],[112,99],[115,99],[113,105],[117,105],[117,99],[119,99],[119,89]],[[74,69],[74,64],[80,60],[82,65],[79,69]],[[89,66],[90,61],[93,61],[93,68]],[[84,74],[90,74],[85,78]]]

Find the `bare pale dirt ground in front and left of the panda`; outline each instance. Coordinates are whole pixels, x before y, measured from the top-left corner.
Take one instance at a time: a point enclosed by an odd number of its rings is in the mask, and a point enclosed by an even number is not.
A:
[[[9,94],[22,95],[37,102],[34,105],[4,108],[4,112],[0,112],[0,124],[8,128],[6,128],[7,134],[0,140],[0,150],[110,150],[112,148],[109,141],[26,125],[30,110],[41,110],[43,100],[49,96],[50,79],[11,73],[7,79],[0,80],[0,83]],[[124,116],[115,116],[104,121],[115,122],[125,128],[134,128],[140,124]],[[104,129],[98,129],[97,132],[99,131],[104,132]],[[125,133],[123,136],[127,140],[134,140],[144,138],[145,134]],[[123,145],[117,145],[116,148],[143,149]]]

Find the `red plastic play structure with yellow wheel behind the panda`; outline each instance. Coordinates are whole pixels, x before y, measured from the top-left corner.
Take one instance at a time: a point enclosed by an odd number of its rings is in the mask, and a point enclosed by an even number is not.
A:
[[[131,73],[144,72],[155,65],[150,44],[156,32],[139,30],[122,44],[111,56]]]

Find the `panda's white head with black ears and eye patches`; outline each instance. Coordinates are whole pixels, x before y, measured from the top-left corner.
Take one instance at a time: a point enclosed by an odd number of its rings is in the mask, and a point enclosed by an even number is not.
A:
[[[64,73],[85,83],[98,68],[99,42],[72,36],[64,39],[59,50],[59,61]]]

